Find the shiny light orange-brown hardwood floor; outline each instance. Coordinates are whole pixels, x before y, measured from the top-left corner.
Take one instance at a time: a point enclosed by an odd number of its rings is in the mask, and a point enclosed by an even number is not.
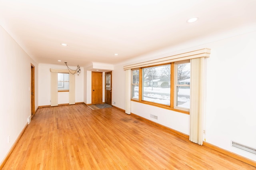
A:
[[[38,109],[4,170],[256,169],[116,108]]]

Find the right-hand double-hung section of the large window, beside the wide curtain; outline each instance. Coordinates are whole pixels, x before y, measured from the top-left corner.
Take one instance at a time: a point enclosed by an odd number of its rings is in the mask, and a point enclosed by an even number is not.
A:
[[[190,109],[190,63],[175,63],[174,108],[189,111]]]

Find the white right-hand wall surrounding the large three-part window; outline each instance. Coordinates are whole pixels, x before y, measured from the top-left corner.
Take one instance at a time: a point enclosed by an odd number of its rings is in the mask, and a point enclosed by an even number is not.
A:
[[[178,44],[115,66],[112,90],[115,106],[125,109],[124,65],[210,48],[206,73],[206,142],[256,161],[255,155],[231,147],[231,140],[234,140],[256,148],[256,27],[252,29],[254,31],[250,32],[248,29],[230,30],[226,34]],[[189,134],[189,115],[137,102],[131,103],[131,112],[146,119],[154,114],[158,116],[156,123]]]

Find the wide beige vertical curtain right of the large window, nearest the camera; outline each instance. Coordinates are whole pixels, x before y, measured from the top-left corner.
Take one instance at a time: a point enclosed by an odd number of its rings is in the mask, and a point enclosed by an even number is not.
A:
[[[203,123],[205,111],[205,83],[206,60],[205,57],[190,60],[191,85],[190,85],[190,136],[189,140],[203,144]]]

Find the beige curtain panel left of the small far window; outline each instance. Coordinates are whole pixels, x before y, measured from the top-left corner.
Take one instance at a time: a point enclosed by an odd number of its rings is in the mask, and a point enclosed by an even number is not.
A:
[[[51,106],[58,106],[58,73],[51,72]]]

